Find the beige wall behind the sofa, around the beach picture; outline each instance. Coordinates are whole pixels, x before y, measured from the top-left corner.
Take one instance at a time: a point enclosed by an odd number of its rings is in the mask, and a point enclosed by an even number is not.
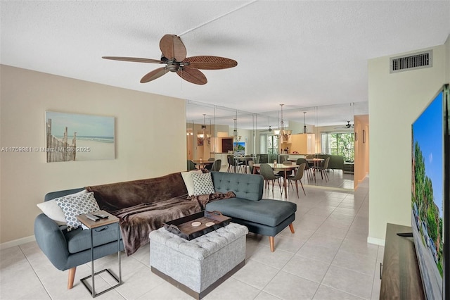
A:
[[[45,111],[113,116],[116,139],[108,161],[46,163],[44,153],[1,152],[2,246],[32,238],[47,192],[186,169],[184,100],[0,67],[1,147],[45,146]]]

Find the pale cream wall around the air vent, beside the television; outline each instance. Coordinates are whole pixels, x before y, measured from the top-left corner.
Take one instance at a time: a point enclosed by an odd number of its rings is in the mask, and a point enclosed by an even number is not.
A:
[[[445,83],[448,43],[432,47],[432,68],[390,74],[389,58],[399,54],[368,61],[368,242],[384,243],[386,223],[411,225],[411,123]]]

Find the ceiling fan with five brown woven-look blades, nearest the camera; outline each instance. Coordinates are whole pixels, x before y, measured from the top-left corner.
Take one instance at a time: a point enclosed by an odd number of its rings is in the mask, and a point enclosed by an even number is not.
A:
[[[201,70],[219,70],[233,68],[238,65],[230,58],[219,56],[191,56],[186,57],[187,51],[180,37],[176,35],[165,35],[160,40],[161,59],[103,56],[105,59],[114,61],[132,61],[136,63],[165,63],[165,67],[155,69],[141,79],[141,83],[155,80],[167,72],[176,72],[184,80],[195,85],[205,85],[207,79]]]

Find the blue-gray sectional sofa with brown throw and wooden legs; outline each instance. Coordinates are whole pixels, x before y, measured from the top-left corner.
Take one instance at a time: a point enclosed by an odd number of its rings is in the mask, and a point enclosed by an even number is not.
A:
[[[206,208],[221,211],[232,218],[232,222],[248,227],[250,232],[268,235],[271,251],[274,251],[274,237],[285,227],[293,230],[296,204],[288,201],[262,199],[264,180],[261,175],[212,172],[215,192],[236,195],[229,199],[212,197],[214,201],[201,204],[188,197],[181,173],[173,173],[146,180],[117,182],[108,185],[87,187],[94,192],[98,206],[120,218],[121,235],[126,249],[133,250],[148,244],[148,234],[162,226],[162,223],[181,218]],[[68,189],[51,192],[45,201],[81,191]],[[152,210],[153,206],[157,206]],[[94,258],[117,252],[117,227],[106,226],[94,232]],[[34,222],[37,244],[59,270],[70,270],[68,288],[73,286],[77,265],[87,263],[90,256],[89,230],[77,228],[68,232],[65,225],[57,225],[44,213]],[[130,248],[131,244],[131,248]],[[131,249],[131,251],[129,251]]]

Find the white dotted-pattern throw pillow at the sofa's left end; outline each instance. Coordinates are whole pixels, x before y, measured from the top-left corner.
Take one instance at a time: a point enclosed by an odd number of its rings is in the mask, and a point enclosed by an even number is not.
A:
[[[65,196],[62,198],[56,198],[55,200],[58,206],[63,210],[65,220],[68,223],[68,231],[77,229],[82,225],[82,223],[77,220],[77,215],[100,211],[97,201],[94,198],[94,192],[74,196]]]

